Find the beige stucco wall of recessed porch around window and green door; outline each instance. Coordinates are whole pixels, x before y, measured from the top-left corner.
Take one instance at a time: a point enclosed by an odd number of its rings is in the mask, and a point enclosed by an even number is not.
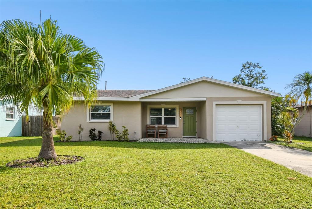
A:
[[[206,113],[206,102],[142,102],[142,137],[146,137],[146,125],[149,124],[147,122],[147,114],[148,105],[178,105],[178,108],[183,107],[196,107],[197,109],[197,137],[206,137],[206,126],[205,126],[205,113]],[[179,111],[179,109],[177,109]],[[179,112],[178,112],[179,113]],[[202,116],[205,118],[203,119]],[[183,136],[183,111],[182,111],[182,119],[179,119],[178,114],[179,127],[168,127],[168,137],[182,137]],[[151,137],[151,135],[149,135]]]

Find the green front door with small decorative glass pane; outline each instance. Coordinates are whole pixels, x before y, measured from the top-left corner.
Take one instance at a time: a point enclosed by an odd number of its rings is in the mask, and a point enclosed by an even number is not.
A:
[[[196,107],[183,109],[183,136],[196,137]]]

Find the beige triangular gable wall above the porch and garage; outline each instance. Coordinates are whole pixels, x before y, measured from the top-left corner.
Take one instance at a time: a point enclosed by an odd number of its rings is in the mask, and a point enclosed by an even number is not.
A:
[[[182,86],[173,90],[146,96],[145,98],[198,98],[198,97],[253,97],[265,96],[260,93],[224,86],[208,81]]]

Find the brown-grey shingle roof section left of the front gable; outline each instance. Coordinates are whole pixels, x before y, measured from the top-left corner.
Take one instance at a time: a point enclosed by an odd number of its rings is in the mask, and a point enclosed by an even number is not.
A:
[[[154,90],[98,90],[98,97],[131,97]]]

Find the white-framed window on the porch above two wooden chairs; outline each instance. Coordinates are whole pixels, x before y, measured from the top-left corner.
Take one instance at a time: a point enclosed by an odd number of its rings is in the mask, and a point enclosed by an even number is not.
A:
[[[178,106],[148,106],[148,123],[151,125],[167,125],[178,127]]]

